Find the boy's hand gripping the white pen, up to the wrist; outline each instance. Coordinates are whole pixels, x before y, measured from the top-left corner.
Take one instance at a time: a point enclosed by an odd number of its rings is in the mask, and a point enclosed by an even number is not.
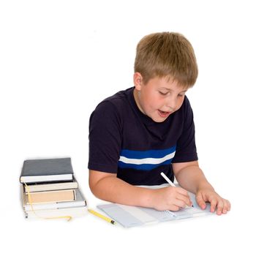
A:
[[[192,206],[187,190],[181,187],[152,189],[152,193],[152,205],[158,211],[178,211],[180,208]]]

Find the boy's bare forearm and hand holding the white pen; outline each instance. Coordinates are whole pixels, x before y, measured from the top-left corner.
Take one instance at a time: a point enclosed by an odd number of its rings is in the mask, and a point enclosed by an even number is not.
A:
[[[135,187],[117,178],[116,174],[97,170],[89,170],[89,186],[96,197],[129,206],[156,208],[159,211],[178,211],[179,208],[192,205],[185,189]]]

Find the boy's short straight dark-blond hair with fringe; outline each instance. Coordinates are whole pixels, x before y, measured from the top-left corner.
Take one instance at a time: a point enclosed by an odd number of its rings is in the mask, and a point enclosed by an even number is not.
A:
[[[154,77],[166,77],[188,89],[195,84],[198,69],[190,42],[182,34],[162,32],[140,40],[135,72],[140,72],[144,84]]]

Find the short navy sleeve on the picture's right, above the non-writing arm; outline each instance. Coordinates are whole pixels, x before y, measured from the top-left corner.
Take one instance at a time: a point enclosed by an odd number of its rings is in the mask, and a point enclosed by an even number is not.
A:
[[[189,104],[189,100],[186,98],[184,108],[184,125],[181,136],[177,141],[176,154],[172,162],[192,162],[197,159],[193,111]]]

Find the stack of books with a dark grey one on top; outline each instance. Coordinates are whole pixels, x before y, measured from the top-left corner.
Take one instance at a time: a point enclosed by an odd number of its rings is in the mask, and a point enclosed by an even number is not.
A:
[[[87,213],[70,158],[25,160],[20,184],[27,218],[70,218]]]

